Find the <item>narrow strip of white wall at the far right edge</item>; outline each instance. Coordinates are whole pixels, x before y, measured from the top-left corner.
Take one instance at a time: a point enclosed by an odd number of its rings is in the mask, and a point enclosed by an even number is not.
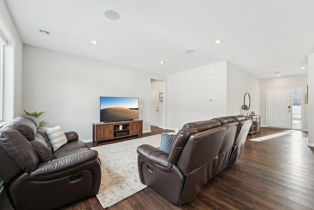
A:
[[[308,84],[309,84],[309,108],[308,108],[308,145],[314,147],[314,54],[308,56]]]

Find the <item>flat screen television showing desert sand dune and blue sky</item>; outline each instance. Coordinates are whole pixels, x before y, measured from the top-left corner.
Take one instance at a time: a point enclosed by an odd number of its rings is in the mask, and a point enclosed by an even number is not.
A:
[[[116,122],[138,119],[138,98],[100,97],[100,121]]]

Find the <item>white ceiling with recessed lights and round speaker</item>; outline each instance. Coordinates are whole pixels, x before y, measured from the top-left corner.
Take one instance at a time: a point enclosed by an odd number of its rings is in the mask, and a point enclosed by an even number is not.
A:
[[[314,53],[314,0],[5,2],[27,45],[161,74],[222,60],[258,78],[302,74]],[[120,19],[107,19],[107,10]]]

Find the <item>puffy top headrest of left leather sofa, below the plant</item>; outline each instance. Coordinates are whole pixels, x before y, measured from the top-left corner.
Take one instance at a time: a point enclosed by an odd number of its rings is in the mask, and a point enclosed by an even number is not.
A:
[[[6,124],[4,127],[7,128],[15,128],[18,131],[20,131],[23,136],[28,140],[31,141],[34,139],[36,130],[37,130],[37,124],[39,125],[39,122],[36,123],[36,118],[33,116],[21,116],[17,117],[8,124]]]

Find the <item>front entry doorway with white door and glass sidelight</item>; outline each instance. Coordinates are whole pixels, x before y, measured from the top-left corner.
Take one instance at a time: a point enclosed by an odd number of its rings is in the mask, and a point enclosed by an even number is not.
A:
[[[267,90],[267,126],[301,130],[302,88]]]

